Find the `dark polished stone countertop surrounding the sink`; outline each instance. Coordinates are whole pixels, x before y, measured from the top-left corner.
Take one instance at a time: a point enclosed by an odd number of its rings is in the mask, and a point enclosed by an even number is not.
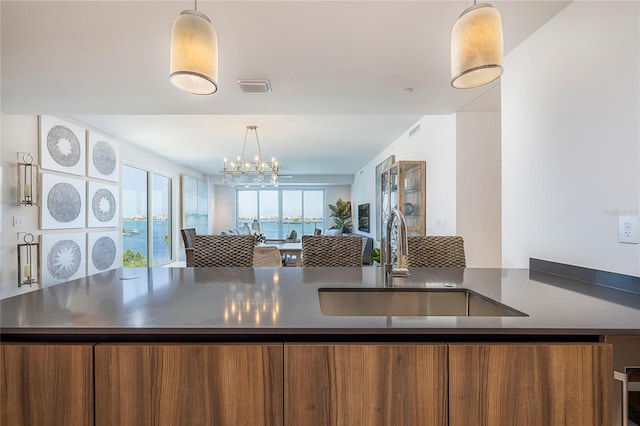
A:
[[[382,268],[116,269],[0,301],[4,340],[640,335],[640,295],[528,269],[411,268],[524,317],[326,316],[318,288],[383,287]],[[125,278],[125,279],[123,279]]]

